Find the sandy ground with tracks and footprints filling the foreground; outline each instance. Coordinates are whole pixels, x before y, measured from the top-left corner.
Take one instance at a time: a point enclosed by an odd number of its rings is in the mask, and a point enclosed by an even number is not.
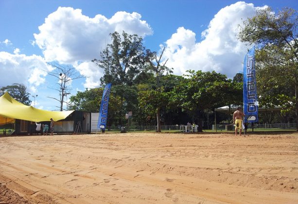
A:
[[[298,203],[298,133],[0,137],[0,203]]]

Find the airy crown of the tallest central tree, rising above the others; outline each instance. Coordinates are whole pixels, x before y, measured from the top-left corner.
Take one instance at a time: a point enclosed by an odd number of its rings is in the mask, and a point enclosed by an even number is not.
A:
[[[140,80],[138,76],[144,69],[143,39],[137,34],[131,35],[124,31],[122,36],[118,32],[110,36],[112,42],[100,52],[100,59],[92,60],[104,71],[100,81],[102,84],[133,85],[136,79]]]

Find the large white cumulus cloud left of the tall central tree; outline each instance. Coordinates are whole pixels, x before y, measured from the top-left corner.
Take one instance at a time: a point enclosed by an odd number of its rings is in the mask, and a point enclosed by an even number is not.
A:
[[[45,60],[73,65],[88,77],[85,87],[99,85],[102,73],[90,61],[99,58],[100,51],[110,43],[109,33],[125,31],[139,36],[153,33],[136,12],[117,12],[111,18],[88,17],[81,9],[71,7],[59,7],[38,29],[39,33],[34,34],[35,44],[42,49]]]

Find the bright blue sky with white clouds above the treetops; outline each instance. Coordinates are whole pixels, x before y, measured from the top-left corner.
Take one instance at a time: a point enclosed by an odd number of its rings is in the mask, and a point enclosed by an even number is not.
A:
[[[165,46],[175,74],[188,69],[226,74],[242,70],[251,47],[237,40],[241,19],[265,6],[297,10],[296,0],[0,0],[0,86],[23,83],[38,95],[35,107],[57,109],[54,79],[43,70],[58,61],[88,77],[73,81],[78,90],[99,86],[101,70],[90,61],[114,31],[139,34],[144,46]],[[34,98],[31,98],[34,101]],[[33,104],[34,105],[34,104]]]

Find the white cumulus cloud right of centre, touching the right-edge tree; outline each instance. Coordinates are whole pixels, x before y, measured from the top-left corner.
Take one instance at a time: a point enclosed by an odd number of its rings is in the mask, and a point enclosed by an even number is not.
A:
[[[169,59],[166,65],[174,68],[175,74],[183,74],[189,69],[215,70],[232,78],[243,69],[242,62],[248,48],[237,39],[238,25],[264,7],[239,1],[222,8],[201,34],[201,42],[196,42],[193,31],[178,28],[164,45],[167,49],[163,57]]]

